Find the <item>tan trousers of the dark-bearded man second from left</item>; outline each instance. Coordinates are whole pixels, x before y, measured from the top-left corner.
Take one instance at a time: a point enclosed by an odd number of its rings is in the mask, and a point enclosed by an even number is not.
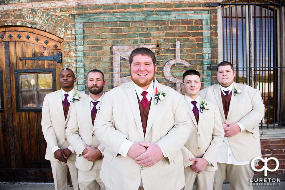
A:
[[[105,185],[100,178],[101,168],[94,162],[89,171],[78,170],[78,184],[80,190],[105,190]]]

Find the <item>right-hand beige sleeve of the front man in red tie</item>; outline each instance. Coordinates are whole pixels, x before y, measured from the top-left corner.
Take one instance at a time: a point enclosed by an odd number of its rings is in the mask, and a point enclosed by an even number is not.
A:
[[[176,156],[179,156],[181,148],[188,140],[192,128],[189,122],[190,118],[186,111],[184,97],[182,95],[180,96],[180,101],[176,109],[174,109],[173,119],[174,126],[172,129],[168,134],[156,142],[156,144],[164,150],[169,161],[172,161]]]

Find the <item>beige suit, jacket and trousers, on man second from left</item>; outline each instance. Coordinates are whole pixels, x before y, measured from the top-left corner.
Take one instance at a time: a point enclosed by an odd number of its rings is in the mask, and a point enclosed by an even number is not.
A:
[[[99,111],[97,111],[97,114],[98,112]],[[105,186],[99,177],[103,160],[91,162],[83,158],[83,156],[80,154],[81,151],[85,148],[84,144],[87,144],[88,146],[101,144],[97,139],[95,132],[92,132],[93,124],[91,119],[90,97],[88,96],[86,99],[74,104],[74,107],[70,114],[66,136],[77,155],[75,166],[79,169],[79,188],[86,190],[99,190],[101,186],[101,190],[103,190],[105,189]],[[98,148],[102,151],[105,149],[102,144]]]

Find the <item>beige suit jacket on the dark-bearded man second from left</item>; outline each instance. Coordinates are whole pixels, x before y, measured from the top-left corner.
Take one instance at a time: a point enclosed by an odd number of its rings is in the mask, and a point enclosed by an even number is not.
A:
[[[103,97],[104,94],[102,96],[102,99]],[[96,117],[99,112],[98,110]],[[94,163],[86,160],[80,154],[80,152],[84,149],[84,144],[87,144],[88,146],[101,144],[97,139],[95,132],[92,132],[93,124],[91,119],[90,97],[88,96],[86,99],[74,104],[66,129],[67,139],[70,142],[70,145],[74,148],[77,155],[75,166],[82,171],[89,171]],[[102,144],[98,148],[102,151],[105,149]],[[101,168],[102,161],[103,160],[95,161],[99,168]]]

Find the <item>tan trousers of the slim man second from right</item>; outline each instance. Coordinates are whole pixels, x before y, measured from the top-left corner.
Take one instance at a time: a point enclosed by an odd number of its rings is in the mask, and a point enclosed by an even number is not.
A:
[[[189,167],[189,166],[188,166]],[[185,187],[181,190],[192,190],[194,182],[196,181],[196,190],[212,190],[214,183],[215,171],[202,171],[196,173],[191,168],[184,171],[185,174]]]

